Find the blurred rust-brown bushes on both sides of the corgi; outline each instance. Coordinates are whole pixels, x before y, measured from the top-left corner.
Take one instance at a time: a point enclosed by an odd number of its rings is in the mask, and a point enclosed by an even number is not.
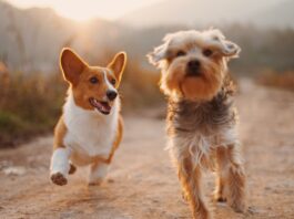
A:
[[[159,73],[129,63],[120,87],[123,113],[161,102],[158,81]],[[60,73],[0,74],[0,148],[52,132],[68,87]]]

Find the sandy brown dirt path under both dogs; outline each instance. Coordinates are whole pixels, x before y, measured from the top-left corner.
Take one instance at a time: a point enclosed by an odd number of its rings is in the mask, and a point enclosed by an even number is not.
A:
[[[294,95],[242,81],[236,98],[246,159],[245,215],[211,202],[215,218],[294,218]],[[164,121],[153,113],[125,118],[125,136],[108,180],[87,187],[87,169],[64,187],[49,181],[52,137],[0,150],[0,218],[191,218],[164,152]],[[207,200],[213,175],[205,177]]]

